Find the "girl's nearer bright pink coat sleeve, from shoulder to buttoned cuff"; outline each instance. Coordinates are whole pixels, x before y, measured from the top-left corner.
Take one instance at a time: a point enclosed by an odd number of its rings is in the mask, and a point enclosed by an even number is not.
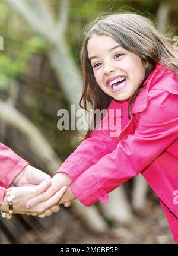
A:
[[[108,194],[123,182],[141,173],[178,137],[178,97],[154,89],[148,105],[138,115],[138,127],[123,137],[115,150],[83,172],[70,188],[75,197],[91,206],[97,200],[107,203]]]

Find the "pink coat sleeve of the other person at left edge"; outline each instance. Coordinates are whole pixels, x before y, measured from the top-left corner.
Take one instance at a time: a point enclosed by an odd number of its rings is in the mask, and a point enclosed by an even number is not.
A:
[[[5,188],[8,188],[15,177],[28,165],[26,160],[0,143],[0,205],[4,200]]]

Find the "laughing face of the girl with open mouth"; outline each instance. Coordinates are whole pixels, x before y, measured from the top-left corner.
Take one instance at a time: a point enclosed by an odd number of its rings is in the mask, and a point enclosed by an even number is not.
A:
[[[87,51],[94,77],[104,93],[116,100],[132,97],[145,78],[141,58],[107,35],[92,36]]]

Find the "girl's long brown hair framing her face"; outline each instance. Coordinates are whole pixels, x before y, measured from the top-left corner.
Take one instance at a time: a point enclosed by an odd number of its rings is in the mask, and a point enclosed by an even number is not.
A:
[[[90,40],[94,34],[106,34],[113,37],[122,48],[135,53],[142,59],[143,63],[147,63],[144,81],[155,68],[157,62],[170,68],[178,75],[177,52],[171,45],[169,38],[166,38],[155,29],[150,19],[131,12],[122,12],[100,17],[88,25],[80,54],[84,84],[80,106],[87,111],[88,103],[91,105],[92,109],[102,110],[106,109],[112,101],[112,97],[104,93],[100,86],[98,86],[94,78],[93,68],[88,59],[87,44],[88,40]],[[128,108],[129,117],[131,115],[132,104],[141,90],[144,81],[139,85],[130,100]],[[83,105],[81,104],[82,101]],[[80,141],[88,138],[91,132],[91,129],[88,128],[84,137],[79,138]]]

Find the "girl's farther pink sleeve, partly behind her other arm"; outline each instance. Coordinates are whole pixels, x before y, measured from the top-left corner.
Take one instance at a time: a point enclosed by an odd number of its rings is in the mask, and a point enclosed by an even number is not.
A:
[[[113,102],[110,103],[107,110],[112,109],[112,105]],[[117,103],[117,109],[119,106],[121,108],[121,104]],[[65,172],[74,182],[81,173],[97,163],[105,154],[112,152],[117,146],[118,136],[111,137],[110,132],[115,130],[116,122],[119,122],[119,119],[120,116],[113,118],[113,121],[107,127],[108,116],[103,118],[101,122],[102,129],[93,131],[89,138],[82,141],[74,153],[62,163],[56,173]],[[104,127],[104,125],[106,126]]]

